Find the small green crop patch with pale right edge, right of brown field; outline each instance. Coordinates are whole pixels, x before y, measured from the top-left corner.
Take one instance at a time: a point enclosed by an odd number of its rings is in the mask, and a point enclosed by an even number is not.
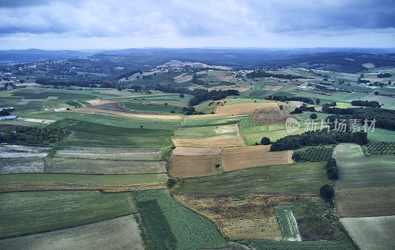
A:
[[[288,205],[277,206],[274,208],[281,229],[283,238],[292,241],[301,241],[298,225],[296,224],[295,217]]]

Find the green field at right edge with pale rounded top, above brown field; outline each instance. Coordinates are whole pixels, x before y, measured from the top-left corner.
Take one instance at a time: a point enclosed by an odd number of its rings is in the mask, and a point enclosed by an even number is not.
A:
[[[395,186],[395,156],[364,156],[359,145],[339,144],[333,157],[337,161],[339,188],[364,188]]]

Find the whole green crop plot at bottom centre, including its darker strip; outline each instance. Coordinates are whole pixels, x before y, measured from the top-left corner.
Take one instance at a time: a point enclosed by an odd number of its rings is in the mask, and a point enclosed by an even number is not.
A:
[[[174,201],[168,190],[134,193],[154,249],[213,249],[227,245],[208,219]]]

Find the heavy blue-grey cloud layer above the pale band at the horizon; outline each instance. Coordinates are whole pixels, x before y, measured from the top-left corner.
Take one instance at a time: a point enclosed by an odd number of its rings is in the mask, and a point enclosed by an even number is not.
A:
[[[77,37],[352,34],[395,28],[394,0],[0,0],[0,34]],[[394,32],[389,31],[389,32]]]

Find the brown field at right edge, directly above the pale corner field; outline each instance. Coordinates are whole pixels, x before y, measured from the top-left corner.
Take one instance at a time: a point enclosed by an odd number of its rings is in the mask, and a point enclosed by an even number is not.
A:
[[[335,188],[335,203],[342,217],[395,214],[395,187]]]

